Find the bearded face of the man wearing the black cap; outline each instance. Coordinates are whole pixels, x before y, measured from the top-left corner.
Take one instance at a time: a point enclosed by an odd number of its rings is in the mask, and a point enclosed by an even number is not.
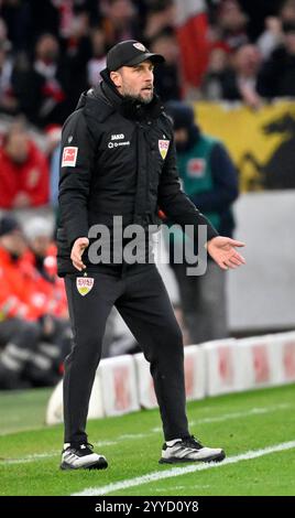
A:
[[[154,65],[146,60],[139,65],[122,66],[111,72],[110,78],[123,97],[132,97],[148,105],[154,94]]]

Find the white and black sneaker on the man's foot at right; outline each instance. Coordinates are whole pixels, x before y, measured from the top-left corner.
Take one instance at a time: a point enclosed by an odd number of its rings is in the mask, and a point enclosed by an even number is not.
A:
[[[167,441],[163,445],[160,464],[176,464],[181,462],[220,462],[226,454],[220,447],[206,447],[194,435],[185,439]]]

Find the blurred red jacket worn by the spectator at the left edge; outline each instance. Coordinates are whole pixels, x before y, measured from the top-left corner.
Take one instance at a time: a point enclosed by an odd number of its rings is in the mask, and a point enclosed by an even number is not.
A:
[[[30,197],[30,206],[48,202],[50,175],[46,157],[34,142],[29,142],[29,155],[17,164],[0,149],[0,208],[12,208],[15,196],[22,192]]]

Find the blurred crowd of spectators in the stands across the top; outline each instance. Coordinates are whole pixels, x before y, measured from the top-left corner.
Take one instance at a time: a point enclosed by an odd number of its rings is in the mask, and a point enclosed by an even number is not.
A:
[[[187,85],[179,66],[176,3],[2,0],[1,112],[22,114],[40,128],[63,123],[81,90],[99,80],[108,50],[127,39],[164,54],[166,64],[156,71],[163,100],[183,97]],[[208,0],[207,28],[206,69],[192,78],[196,95],[251,106],[263,97],[294,95],[294,0]],[[193,41],[189,51],[197,51]]]

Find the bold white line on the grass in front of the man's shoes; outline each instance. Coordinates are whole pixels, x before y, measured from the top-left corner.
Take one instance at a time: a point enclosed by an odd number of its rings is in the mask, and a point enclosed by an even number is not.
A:
[[[172,470],[165,470],[163,472],[149,473],[148,475],[139,476],[136,478],[130,478],[129,481],[116,482],[114,484],[108,484],[102,487],[89,487],[79,493],[74,493],[72,496],[103,496],[109,493],[114,493],[119,489],[127,489],[129,487],[142,486],[150,482],[162,481],[163,478],[171,478],[175,476],[186,475],[187,473],[201,472],[204,470],[211,470],[212,467],[221,467],[228,464],[237,464],[241,461],[250,461],[251,458],[258,458],[263,455],[271,453],[283,452],[284,450],[291,450],[295,447],[295,441],[283,442],[281,444],[274,444],[262,450],[252,450],[232,457],[228,457],[221,463],[208,463],[208,464],[193,464],[186,467],[174,467]]]

